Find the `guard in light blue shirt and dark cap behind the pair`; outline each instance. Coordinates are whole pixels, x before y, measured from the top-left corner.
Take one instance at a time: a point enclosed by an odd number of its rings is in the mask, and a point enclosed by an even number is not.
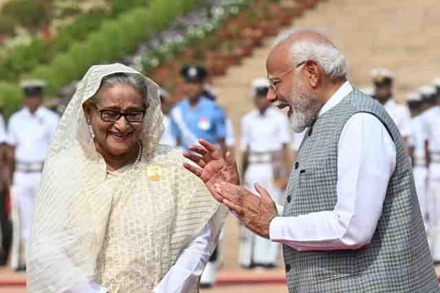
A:
[[[201,66],[185,66],[181,69],[185,80],[184,93],[187,99],[179,102],[171,110],[171,132],[181,148],[197,143],[198,139],[206,139],[219,145],[226,151],[225,114],[215,99],[206,91],[205,82],[208,71]],[[209,262],[201,275],[201,286],[210,287],[214,284],[219,268],[219,249],[212,253]]]

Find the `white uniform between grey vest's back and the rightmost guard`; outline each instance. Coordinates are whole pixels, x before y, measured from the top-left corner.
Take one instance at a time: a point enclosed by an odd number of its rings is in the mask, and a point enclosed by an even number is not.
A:
[[[428,167],[426,166],[425,158],[425,141],[426,132],[423,125],[423,116],[417,115],[410,121],[410,136],[408,137],[408,144],[413,148],[412,157],[412,174],[414,175],[414,183],[417,191],[417,198],[419,199],[419,206],[421,215],[423,216],[423,223],[428,229]]]

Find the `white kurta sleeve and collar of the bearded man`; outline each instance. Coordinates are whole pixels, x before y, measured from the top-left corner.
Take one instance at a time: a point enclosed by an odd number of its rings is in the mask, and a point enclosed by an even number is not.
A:
[[[319,115],[352,90],[351,84],[345,82]],[[276,217],[270,223],[270,239],[298,251],[357,249],[369,244],[382,215],[395,163],[395,145],[382,122],[368,113],[353,115],[345,124],[338,145],[335,208],[298,217]]]

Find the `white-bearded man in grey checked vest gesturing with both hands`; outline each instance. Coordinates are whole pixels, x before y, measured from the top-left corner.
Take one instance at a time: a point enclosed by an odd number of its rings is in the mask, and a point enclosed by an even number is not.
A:
[[[281,242],[289,292],[440,292],[408,154],[386,110],[353,89],[344,56],[325,36],[281,36],[266,61],[267,99],[307,134],[283,215],[270,194],[239,182],[212,145],[185,167],[250,230]],[[221,182],[221,181],[225,182]]]

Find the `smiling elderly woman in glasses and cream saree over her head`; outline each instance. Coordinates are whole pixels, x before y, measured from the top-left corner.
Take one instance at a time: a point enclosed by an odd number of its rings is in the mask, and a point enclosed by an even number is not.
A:
[[[225,210],[159,145],[158,86],[124,65],[87,71],[45,162],[28,292],[197,292]]]

